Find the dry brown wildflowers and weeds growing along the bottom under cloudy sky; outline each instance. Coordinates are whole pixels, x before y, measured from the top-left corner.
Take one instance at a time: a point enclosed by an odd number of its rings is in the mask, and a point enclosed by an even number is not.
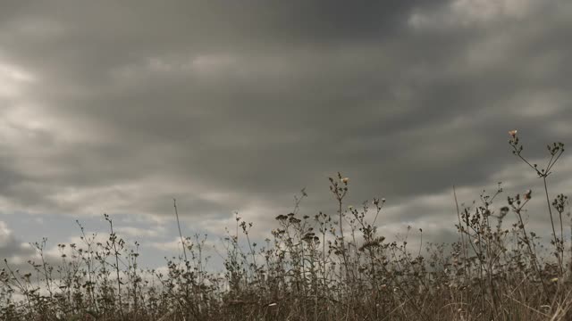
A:
[[[508,196],[506,205],[493,210],[499,185],[471,206],[457,203],[451,224],[458,242],[408,249],[407,238],[389,241],[378,233],[385,200],[348,207],[349,178],[338,173],[330,178],[336,212],[300,213],[307,197],[302,190],[292,212],[276,217],[262,246],[251,240],[253,224],[237,216],[223,239],[222,272],[209,271],[206,237],[198,235],[181,235],[184,251],[168,260],[167,272],[139,268],[137,243],[135,249],[126,246],[108,216],[105,243],[80,226],[83,243],[60,244],[58,265],[44,257],[46,240],[34,243],[38,262],[29,261],[31,273],[4,260],[0,318],[571,320],[568,197],[551,199],[547,181],[564,145],[548,145],[550,158],[541,168],[523,156],[517,132],[509,135],[512,152],[543,179],[538,197],[546,198],[543,215],[551,222],[547,247],[526,225],[533,193]],[[509,216],[515,223],[506,226]],[[421,228],[418,233],[423,236]]]

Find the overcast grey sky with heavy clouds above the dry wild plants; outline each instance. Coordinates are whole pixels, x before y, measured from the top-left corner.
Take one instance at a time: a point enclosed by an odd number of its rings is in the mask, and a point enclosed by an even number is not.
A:
[[[539,163],[572,144],[571,37],[568,0],[3,0],[0,256],[108,213],[160,266],[173,198],[186,235],[215,242],[238,210],[264,238],[302,187],[302,212],[333,214],[338,171],[348,204],[387,200],[388,237],[454,241],[453,185],[541,192],[509,130]],[[551,197],[570,175],[565,153]]]

